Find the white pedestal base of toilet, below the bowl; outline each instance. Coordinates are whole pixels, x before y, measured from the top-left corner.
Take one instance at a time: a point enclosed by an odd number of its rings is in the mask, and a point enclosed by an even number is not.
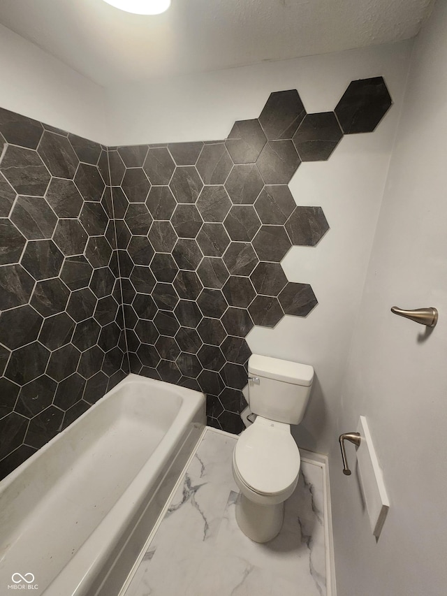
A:
[[[240,493],[236,502],[236,521],[249,539],[254,542],[269,542],[281,531],[284,502],[260,505]]]

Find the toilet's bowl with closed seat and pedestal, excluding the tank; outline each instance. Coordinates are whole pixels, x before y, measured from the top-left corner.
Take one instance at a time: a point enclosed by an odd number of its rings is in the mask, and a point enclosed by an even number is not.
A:
[[[300,451],[288,424],[257,416],[233,451],[233,477],[240,490],[236,520],[254,542],[279,534],[284,501],[298,483]]]

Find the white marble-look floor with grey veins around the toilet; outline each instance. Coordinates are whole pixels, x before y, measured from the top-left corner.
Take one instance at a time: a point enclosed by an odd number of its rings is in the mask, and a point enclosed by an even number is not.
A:
[[[323,470],[302,461],[284,526],[242,534],[231,436],[207,429],[125,596],[326,596]]]

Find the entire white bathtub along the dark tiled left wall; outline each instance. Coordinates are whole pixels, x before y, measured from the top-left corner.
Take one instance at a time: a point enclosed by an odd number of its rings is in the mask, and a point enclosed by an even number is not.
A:
[[[202,393],[121,381],[0,482],[0,594],[117,595],[204,428]]]

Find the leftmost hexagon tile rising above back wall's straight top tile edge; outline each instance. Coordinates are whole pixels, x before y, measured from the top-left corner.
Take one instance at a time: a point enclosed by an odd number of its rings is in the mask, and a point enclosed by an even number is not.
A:
[[[254,163],[266,140],[258,119],[239,120],[231,129],[225,145],[234,163]]]

